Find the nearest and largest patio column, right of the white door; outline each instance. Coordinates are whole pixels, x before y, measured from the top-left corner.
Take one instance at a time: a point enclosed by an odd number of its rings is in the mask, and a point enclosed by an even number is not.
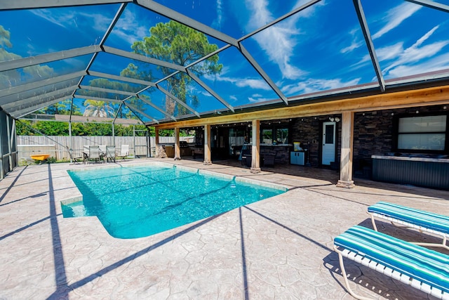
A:
[[[352,180],[352,153],[354,138],[354,112],[342,113],[342,157],[340,159],[339,188],[354,188]]]

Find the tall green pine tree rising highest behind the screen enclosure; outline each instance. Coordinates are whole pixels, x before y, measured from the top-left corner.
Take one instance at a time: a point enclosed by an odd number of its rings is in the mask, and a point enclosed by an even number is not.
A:
[[[131,46],[133,51],[177,65],[187,66],[199,60],[199,58],[216,51],[218,48],[217,45],[209,43],[205,34],[173,20],[167,23],[160,22],[150,28],[149,32],[149,37],[144,37],[142,41],[134,42],[133,46]],[[201,75],[205,74],[217,74],[222,70],[222,67],[223,65],[218,63],[218,56],[215,55],[190,67],[189,70],[201,77]],[[161,70],[164,76],[173,73],[173,70],[167,67],[158,66],[158,69]],[[122,73],[130,77],[150,80],[151,78],[148,77],[142,78],[150,74],[143,70],[145,70],[145,64],[139,67],[130,64]],[[189,75],[181,72],[166,79],[166,82],[168,91],[174,96],[191,107],[199,105],[198,96],[192,93],[192,78]],[[182,106],[178,106],[176,110],[175,101],[168,96],[165,98],[165,108],[170,115],[185,115],[188,113],[187,109]]]

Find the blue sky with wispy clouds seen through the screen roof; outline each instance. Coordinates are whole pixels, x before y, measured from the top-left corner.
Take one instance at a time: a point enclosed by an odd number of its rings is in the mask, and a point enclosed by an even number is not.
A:
[[[236,39],[307,3],[305,0],[157,2]],[[449,68],[448,13],[402,0],[361,2],[385,79]],[[118,4],[110,4],[0,11],[0,25],[11,32],[13,44],[6,51],[27,57],[98,44],[118,8]],[[128,4],[106,45],[131,51],[133,41],[149,35],[149,28],[157,22],[168,19]],[[209,41],[225,46],[212,37]],[[245,39],[243,46],[288,97],[377,81],[351,0],[320,1]],[[219,57],[224,66],[222,72],[202,79],[225,101],[239,106],[278,98],[236,48],[228,48]],[[48,66],[54,74],[67,74],[84,70],[90,58],[72,58]],[[92,70],[118,75],[130,62],[102,54]],[[24,82],[25,79],[21,83]],[[199,112],[224,107],[201,86],[192,86],[192,92],[200,98]]]

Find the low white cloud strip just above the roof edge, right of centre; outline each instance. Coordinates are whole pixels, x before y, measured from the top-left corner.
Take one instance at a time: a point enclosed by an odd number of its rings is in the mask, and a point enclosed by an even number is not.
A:
[[[350,81],[342,81],[342,79],[307,79],[297,84],[288,84],[283,86],[282,91],[288,95],[297,95],[302,93],[314,93],[317,91],[326,91],[330,89],[339,89],[344,86],[355,86],[360,78]]]

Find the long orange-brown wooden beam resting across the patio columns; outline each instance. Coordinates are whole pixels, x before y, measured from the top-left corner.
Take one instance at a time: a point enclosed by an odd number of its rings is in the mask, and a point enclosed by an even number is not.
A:
[[[253,119],[288,119],[317,115],[341,114],[342,112],[366,112],[370,110],[389,110],[401,107],[449,104],[449,86],[439,86],[413,91],[381,93],[373,96],[323,101],[304,105],[280,107],[272,110],[258,110],[241,114],[191,119],[155,125],[159,129],[173,129],[205,124],[228,124],[252,122]],[[152,125],[153,126],[153,125]]]

